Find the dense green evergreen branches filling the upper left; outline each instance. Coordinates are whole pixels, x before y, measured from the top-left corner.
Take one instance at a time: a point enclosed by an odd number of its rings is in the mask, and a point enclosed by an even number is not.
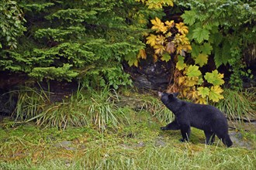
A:
[[[153,15],[144,5],[133,0],[1,3],[2,21],[13,28],[0,35],[1,44],[7,44],[0,51],[0,70],[26,73],[35,80],[81,80],[90,86],[109,83],[118,88],[131,83],[121,62],[144,47],[141,30]],[[16,11],[6,13],[12,6]],[[12,17],[17,12],[19,20]],[[8,36],[13,30],[15,35]]]

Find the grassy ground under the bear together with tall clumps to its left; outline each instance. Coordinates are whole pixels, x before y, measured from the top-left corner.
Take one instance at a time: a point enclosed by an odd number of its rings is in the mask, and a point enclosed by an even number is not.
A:
[[[18,115],[29,119],[21,124],[6,120],[0,124],[0,169],[256,167],[254,132],[240,132],[243,141],[252,141],[252,149],[226,148],[220,140],[211,146],[204,145],[203,132],[195,128],[190,142],[181,143],[179,131],[160,130],[173,117],[152,94],[123,90],[117,95],[116,91],[106,89],[80,89],[66,100],[54,103],[48,100],[46,92],[33,93],[44,95],[46,98],[41,99],[47,99],[50,105],[43,105],[40,100],[33,103],[36,107],[19,103],[22,111]]]

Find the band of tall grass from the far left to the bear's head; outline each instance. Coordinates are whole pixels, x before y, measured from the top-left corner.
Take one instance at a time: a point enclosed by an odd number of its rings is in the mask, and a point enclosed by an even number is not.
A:
[[[158,121],[171,121],[173,115],[163,104],[149,94],[117,93],[116,90],[85,90],[65,95],[53,101],[54,93],[43,89],[23,87],[18,93],[17,107],[13,114],[16,122],[36,121],[40,127],[83,127],[95,124],[100,130],[130,124],[135,114],[148,111]]]

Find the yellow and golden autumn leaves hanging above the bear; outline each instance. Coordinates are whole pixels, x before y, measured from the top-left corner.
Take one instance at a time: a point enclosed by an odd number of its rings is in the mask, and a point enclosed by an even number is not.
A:
[[[149,2],[147,1],[147,3]],[[167,1],[161,2],[166,5],[164,2]],[[174,57],[175,60],[174,83],[168,87],[168,91],[178,91],[181,97],[200,104],[206,104],[209,100],[218,102],[223,99],[221,94],[223,89],[220,87],[224,83],[223,74],[213,70],[212,73],[202,75],[200,71],[200,67],[208,62],[208,55],[212,49],[209,43],[203,43],[202,48],[197,53],[193,53],[193,64],[185,63],[185,57],[189,57],[192,52],[191,42],[187,37],[188,26],[184,22],[176,23],[174,20],[164,22],[157,17],[151,19],[150,22],[152,32],[147,36],[146,43],[154,49],[154,62],[157,62],[157,59],[168,62],[171,57]],[[205,37],[201,35],[203,33],[201,31],[195,29],[194,36],[203,42]],[[138,66],[138,60],[146,57],[144,49],[140,49],[137,61],[133,65]]]

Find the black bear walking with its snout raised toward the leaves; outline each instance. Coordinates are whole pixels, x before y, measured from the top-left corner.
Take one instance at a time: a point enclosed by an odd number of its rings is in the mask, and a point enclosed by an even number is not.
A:
[[[189,141],[190,127],[195,127],[204,131],[207,145],[213,143],[215,134],[227,147],[233,145],[228,134],[227,119],[216,107],[179,100],[178,93],[158,92],[158,96],[161,97],[163,104],[175,114],[175,121],[161,127],[161,130],[181,130],[180,141]]]

